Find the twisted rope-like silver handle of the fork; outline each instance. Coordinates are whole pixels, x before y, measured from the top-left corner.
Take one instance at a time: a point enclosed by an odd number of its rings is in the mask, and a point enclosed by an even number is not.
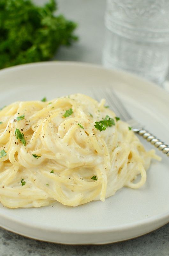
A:
[[[157,139],[154,135],[152,135],[151,133],[149,133],[146,130],[135,131],[135,129],[133,129],[133,131],[137,132],[139,135],[143,136],[144,139],[149,141],[152,145],[154,145],[156,148],[158,148],[164,154],[169,156],[169,146],[167,144],[165,144],[161,140]]]

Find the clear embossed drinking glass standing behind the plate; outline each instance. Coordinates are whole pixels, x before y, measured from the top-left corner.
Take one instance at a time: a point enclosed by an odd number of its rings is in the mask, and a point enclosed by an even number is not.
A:
[[[169,0],[107,0],[103,65],[162,84],[169,67]]]

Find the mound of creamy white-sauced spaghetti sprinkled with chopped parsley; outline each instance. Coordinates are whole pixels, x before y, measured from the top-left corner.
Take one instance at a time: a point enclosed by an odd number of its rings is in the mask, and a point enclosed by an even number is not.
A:
[[[77,206],[146,181],[146,152],[105,100],[74,94],[52,101],[15,102],[0,111],[0,201],[40,207]],[[133,181],[141,174],[138,183]]]

